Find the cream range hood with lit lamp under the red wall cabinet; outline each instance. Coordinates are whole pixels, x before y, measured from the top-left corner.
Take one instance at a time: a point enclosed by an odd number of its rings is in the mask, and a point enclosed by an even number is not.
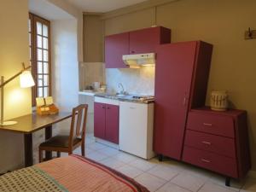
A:
[[[137,54],[137,55],[123,55],[125,65],[131,68],[139,68],[142,66],[154,66],[155,54]]]

